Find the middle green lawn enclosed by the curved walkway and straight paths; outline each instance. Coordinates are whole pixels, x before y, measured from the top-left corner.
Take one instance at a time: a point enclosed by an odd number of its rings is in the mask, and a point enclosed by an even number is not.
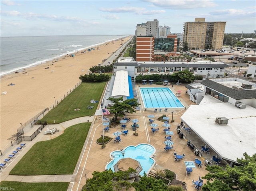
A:
[[[52,140],[37,142],[17,163],[10,174],[72,174],[90,125],[91,123],[76,124]]]

